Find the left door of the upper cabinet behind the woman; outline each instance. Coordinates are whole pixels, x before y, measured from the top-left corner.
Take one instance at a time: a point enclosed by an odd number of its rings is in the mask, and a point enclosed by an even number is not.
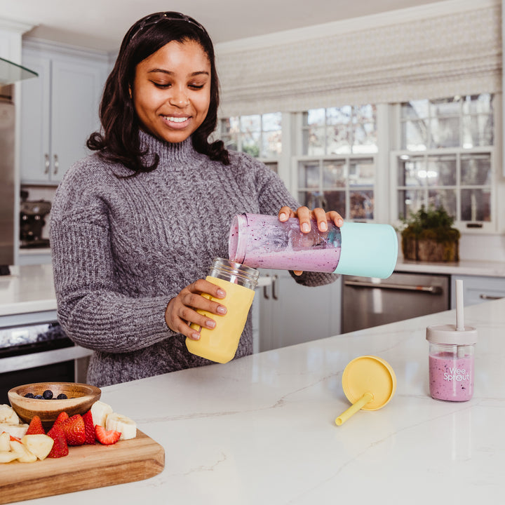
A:
[[[47,182],[50,170],[50,60],[23,51],[23,65],[38,77],[21,83],[21,182]]]

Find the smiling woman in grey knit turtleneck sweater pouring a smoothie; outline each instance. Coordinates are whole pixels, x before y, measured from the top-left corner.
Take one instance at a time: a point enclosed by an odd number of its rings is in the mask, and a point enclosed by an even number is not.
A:
[[[308,231],[336,213],[313,213],[281,180],[246,154],[209,142],[219,105],[213,44],[180,13],[156,13],[130,28],[105,85],[95,151],[65,174],[51,215],[58,318],[93,349],[88,382],[105,386],[209,361],[187,351],[189,325],[214,328],[225,293],[204,278],[227,257],[238,213],[300,218]],[[279,210],[280,209],[280,210]],[[329,274],[297,272],[320,285]],[[252,352],[250,318],[236,357]]]

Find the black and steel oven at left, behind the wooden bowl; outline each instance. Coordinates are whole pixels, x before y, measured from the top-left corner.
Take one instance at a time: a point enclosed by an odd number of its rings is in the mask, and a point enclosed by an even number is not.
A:
[[[8,390],[20,384],[86,382],[92,351],[76,346],[53,312],[46,314],[47,321],[20,324],[19,316],[12,318],[0,318],[0,404],[8,403]]]

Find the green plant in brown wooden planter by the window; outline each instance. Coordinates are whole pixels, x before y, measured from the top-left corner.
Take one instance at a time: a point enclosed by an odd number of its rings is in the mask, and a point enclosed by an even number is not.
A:
[[[454,217],[443,206],[422,206],[403,219],[401,231],[405,260],[426,262],[459,261],[459,230],[452,227]]]

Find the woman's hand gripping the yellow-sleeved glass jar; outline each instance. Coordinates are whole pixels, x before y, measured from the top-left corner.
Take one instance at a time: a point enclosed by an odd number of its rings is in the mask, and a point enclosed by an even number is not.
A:
[[[200,338],[200,332],[189,326],[191,323],[210,330],[215,328],[215,321],[199,314],[197,310],[224,316],[227,313],[227,308],[219,302],[202,296],[204,294],[213,298],[224,298],[226,296],[226,292],[220,286],[205,279],[198,279],[198,281],[183,288],[177,296],[168,302],[165,310],[165,321],[168,328],[177,333],[182,333],[191,340]]]

